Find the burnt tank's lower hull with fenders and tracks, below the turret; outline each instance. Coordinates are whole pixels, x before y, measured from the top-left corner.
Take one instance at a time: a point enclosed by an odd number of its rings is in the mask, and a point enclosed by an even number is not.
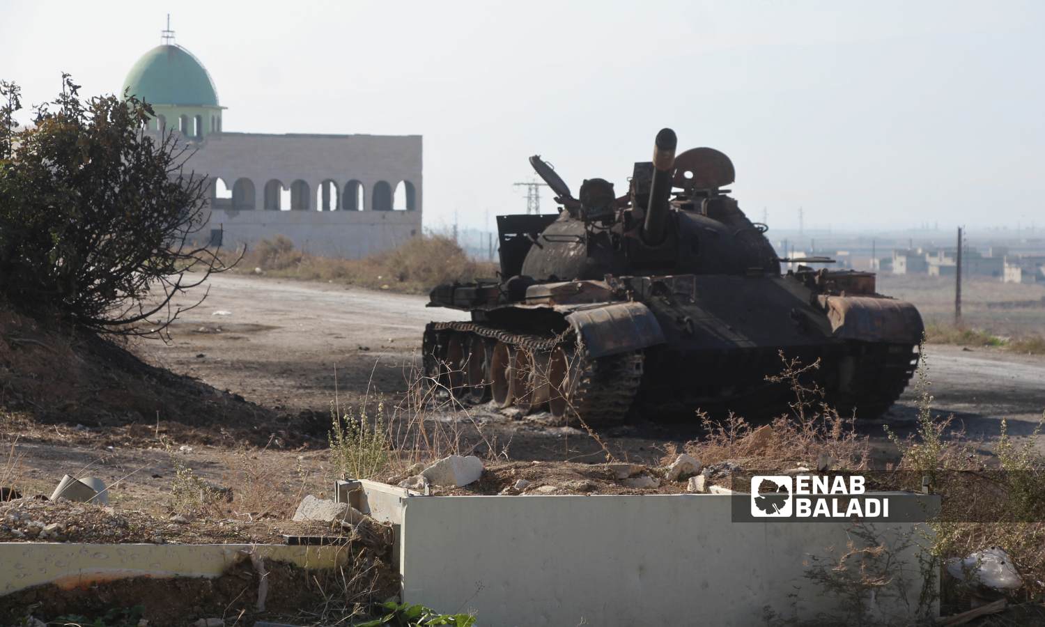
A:
[[[474,286],[456,289],[477,294]],[[429,373],[438,373],[441,364],[444,373],[464,373],[469,366],[481,372],[472,375],[473,384],[514,376],[515,393],[529,412],[568,396],[571,384],[562,378],[570,377],[549,369],[549,355],[564,351],[582,363],[580,369],[605,366],[610,374],[581,396],[610,397],[612,408],[585,400],[584,407],[559,412],[559,418],[599,425],[619,422],[629,411],[672,419],[696,419],[697,411],[752,419],[787,414],[793,392],[769,377],[789,365],[815,365],[802,377],[806,387],[822,391],[823,400],[843,415],[870,418],[903,392],[923,331],[907,303],[825,294],[793,276],[607,277],[537,284],[528,295],[525,303],[444,302],[469,308],[473,321],[429,325]],[[477,338],[485,343],[483,355],[471,364],[466,348],[448,348],[479,346]],[[522,377],[532,380],[490,370],[488,353],[497,343],[512,353],[515,370],[532,371]],[[468,387],[464,375],[443,379],[448,390],[488,398],[482,386]],[[531,388],[538,392],[525,396]],[[631,401],[623,403],[622,393]],[[501,402],[513,404],[511,398]]]

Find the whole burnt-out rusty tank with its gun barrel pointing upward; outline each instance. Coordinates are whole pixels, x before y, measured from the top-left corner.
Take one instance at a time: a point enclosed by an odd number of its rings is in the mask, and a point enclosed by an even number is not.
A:
[[[726,185],[734,165],[699,147],[676,156],[670,129],[634,164],[626,194],[588,179],[574,198],[539,156],[555,215],[497,216],[500,280],[440,285],[428,306],[470,322],[424,331],[425,372],[461,401],[492,400],[561,424],[695,411],[788,412],[783,359],[843,416],[878,416],[918,364],[922,318],[876,293],[875,275],[781,259]],[[794,270],[781,274],[781,263]]]

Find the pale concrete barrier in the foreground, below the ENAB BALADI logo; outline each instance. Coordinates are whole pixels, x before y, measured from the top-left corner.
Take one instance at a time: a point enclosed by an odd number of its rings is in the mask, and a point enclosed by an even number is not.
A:
[[[399,526],[404,602],[474,610],[483,626],[746,626],[764,624],[765,607],[787,618],[843,609],[804,575],[809,555],[844,552],[844,520],[733,522],[732,497],[714,494],[423,496],[373,482],[340,491]],[[914,528],[887,527],[893,537]],[[915,548],[895,574],[912,605],[879,595],[872,613],[913,614]]]

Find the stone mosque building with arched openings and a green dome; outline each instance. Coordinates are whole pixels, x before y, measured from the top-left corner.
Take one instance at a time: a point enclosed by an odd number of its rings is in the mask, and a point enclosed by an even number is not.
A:
[[[162,44],[127,72],[122,93],[153,106],[149,129],[190,144],[187,170],[207,177],[201,231],[225,248],[284,235],[303,251],[358,258],[421,233],[420,135],[229,133],[203,64]]]

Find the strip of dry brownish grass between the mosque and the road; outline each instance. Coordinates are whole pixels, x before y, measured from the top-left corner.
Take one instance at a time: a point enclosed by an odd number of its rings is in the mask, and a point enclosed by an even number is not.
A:
[[[445,235],[413,237],[402,246],[363,259],[311,255],[294,248],[283,235],[262,239],[237,266],[240,273],[299,280],[348,283],[374,289],[423,294],[440,283],[495,276],[496,266],[474,261]]]

